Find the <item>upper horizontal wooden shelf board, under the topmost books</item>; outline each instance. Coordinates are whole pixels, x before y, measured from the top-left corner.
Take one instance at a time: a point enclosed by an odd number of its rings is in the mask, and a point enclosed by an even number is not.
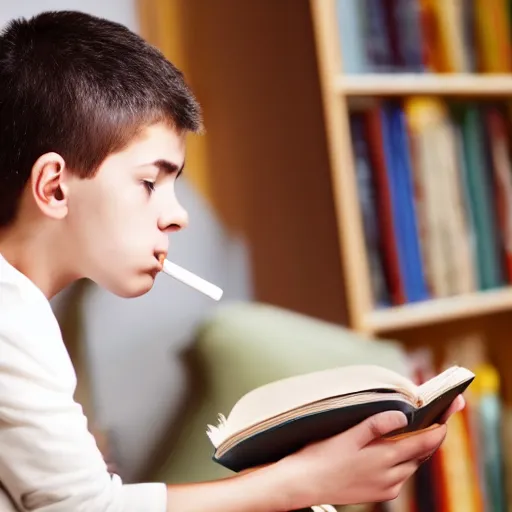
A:
[[[340,74],[334,79],[334,88],[347,96],[512,96],[512,74]]]

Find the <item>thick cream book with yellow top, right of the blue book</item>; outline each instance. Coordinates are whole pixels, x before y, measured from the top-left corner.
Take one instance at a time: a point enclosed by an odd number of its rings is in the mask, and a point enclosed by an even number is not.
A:
[[[426,275],[435,297],[476,289],[455,128],[437,98],[405,100]],[[435,151],[433,151],[435,148]]]

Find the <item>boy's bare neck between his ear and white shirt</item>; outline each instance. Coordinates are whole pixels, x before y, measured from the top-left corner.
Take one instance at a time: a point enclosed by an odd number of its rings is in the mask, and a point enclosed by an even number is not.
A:
[[[69,252],[59,243],[54,226],[45,222],[29,229],[16,224],[0,229],[0,254],[48,299],[78,278],[69,271]]]

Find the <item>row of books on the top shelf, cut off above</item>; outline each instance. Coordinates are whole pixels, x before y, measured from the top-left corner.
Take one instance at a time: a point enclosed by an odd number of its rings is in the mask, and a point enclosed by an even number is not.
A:
[[[344,73],[508,73],[507,0],[337,0]]]

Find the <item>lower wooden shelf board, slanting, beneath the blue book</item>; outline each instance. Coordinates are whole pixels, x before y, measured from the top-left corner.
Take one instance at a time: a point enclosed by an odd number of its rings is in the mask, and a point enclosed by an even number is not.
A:
[[[383,333],[512,310],[512,287],[373,311],[368,329]]]

